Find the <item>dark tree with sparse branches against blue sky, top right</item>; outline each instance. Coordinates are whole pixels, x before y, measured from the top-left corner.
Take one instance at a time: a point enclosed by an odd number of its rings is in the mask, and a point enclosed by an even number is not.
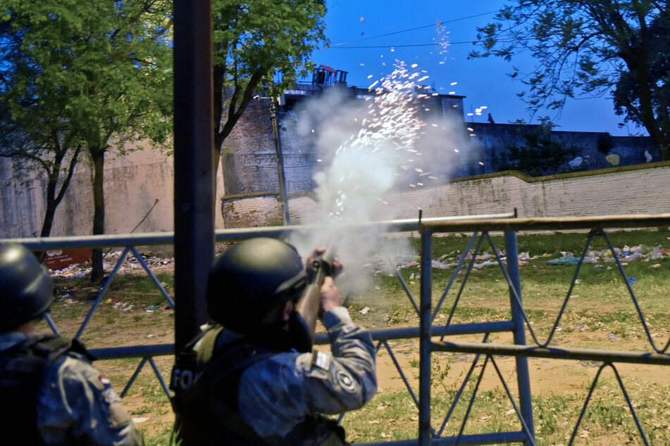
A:
[[[538,60],[523,77],[529,110],[559,109],[580,94],[612,94],[616,113],[643,125],[670,159],[670,4],[651,0],[514,0],[478,29],[471,57]]]

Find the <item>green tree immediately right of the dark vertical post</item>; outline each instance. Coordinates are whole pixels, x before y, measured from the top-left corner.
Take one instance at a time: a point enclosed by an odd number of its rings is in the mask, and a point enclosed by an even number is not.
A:
[[[214,162],[254,95],[277,96],[325,43],[323,1],[213,0]],[[275,79],[278,74],[278,79]],[[216,165],[216,164],[215,164]]]

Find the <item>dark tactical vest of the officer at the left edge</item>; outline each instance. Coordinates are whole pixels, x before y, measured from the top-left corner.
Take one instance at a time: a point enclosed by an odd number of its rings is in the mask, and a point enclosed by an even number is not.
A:
[[[73,350],[69,340],[46,335],[0,352],[0,444],[44,445],[37,430],[37,393],[44,367],[68,350]]]

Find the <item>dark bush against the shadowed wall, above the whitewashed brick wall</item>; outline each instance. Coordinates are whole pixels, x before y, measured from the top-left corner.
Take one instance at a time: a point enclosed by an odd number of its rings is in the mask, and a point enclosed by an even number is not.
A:
[[[550,122],[545,122],[523,131],[521,136],[524,144],[509,144],[506,147],[507,163],[500,165],[498,170],[521,170],[531,177],[572,170],[566,163],[581,152],[581,149],[552,140],[551,129]]]

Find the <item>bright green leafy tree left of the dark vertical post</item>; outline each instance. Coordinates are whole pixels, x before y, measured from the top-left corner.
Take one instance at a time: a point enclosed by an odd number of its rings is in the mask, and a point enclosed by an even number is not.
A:
[[[168,1],[0,0],[0,101],[27,134],[30,156],[93,165],[93,234],[104,233],[104,160],[127,142],[165,141],[171,124]],[[58,149],[55,147],[59,146]],[[71,174],[70,166],[70,174]],[[102,278],[94,250],[92,280]]]

